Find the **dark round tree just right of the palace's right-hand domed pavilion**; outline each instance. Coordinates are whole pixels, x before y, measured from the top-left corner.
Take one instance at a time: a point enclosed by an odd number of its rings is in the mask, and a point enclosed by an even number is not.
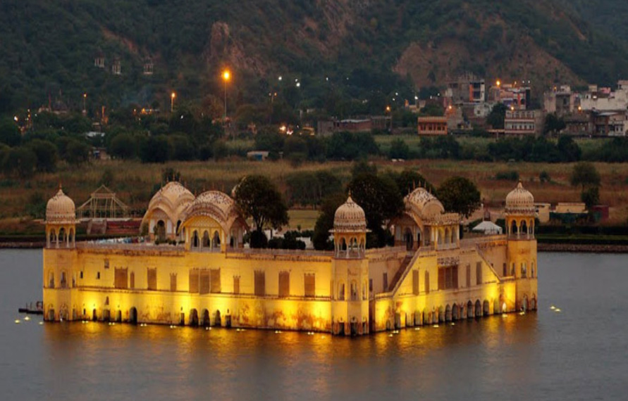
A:
[[[469,217],[480,207],[480,191],[464,177],[446,179],[438,187],[437,195],[446,211],[460,213],[464,217]]]

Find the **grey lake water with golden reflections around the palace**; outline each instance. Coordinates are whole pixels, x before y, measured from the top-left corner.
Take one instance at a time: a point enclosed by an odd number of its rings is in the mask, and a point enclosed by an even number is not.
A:
[[[621,400],[625,261],[540,253],[538,312],[332,338],[26,322],[42,251],[1,250],[0,400]]]

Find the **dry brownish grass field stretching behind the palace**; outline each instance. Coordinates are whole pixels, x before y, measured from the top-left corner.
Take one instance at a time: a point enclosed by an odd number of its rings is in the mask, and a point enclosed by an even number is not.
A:
[[[484,203],[495,208],[503,204],[506,194],[515,186],[515,182],[496,180],[495,173],[511,170],[519,173],[524,185],[534,193],[538,202],[574,202],[580,198],[579,189],[569,185],[572,164],[476,163],[455,160],[412,160],[403,163],[377,160],[375,163],[379,171],[401,171],[406,168],[416,170],[437,186],[453,175],[468,177],[479,186]],[[595,165],[602,176],[601,203],[611,206],[610,217],[613,223],[625,224],[628,217],[628,164]],[[282,191],[287,189],[285,178],[293,172],[329,170],[346,183],[350,178],[352,163],[304,163],[299,167],[292,167],[285,161],[252,162],[233,159],[165,165],[109,160],[93,162],[80,168],[62,165],[58,172],[37,174],[25,181],[0,179],[0,219],[10,222],[12,227],[19,227],[19,218],[28,214],[30,205],[35,203],[37,197],[47,200],[54,195],[59,183],[63,184],[63,190],[75,200],[78,207],[97,189],[104,175],[113,177],[109,187],[133,208],[136,215],[141,216],[154,192],[164,184],[161,175],[166,167],[180,172],[181,180],[193,193],[208,189],[220,189],[230,193],[238,179],[246,174],[266,174]],[[550,182],[539,181],[538,176],[543,171],[550,175]],[[312,210],[293,211],[290,226],[296,228],[300,225],[303,229],[312,227],[315,215],[316,212]],[[1,226],[2,224],[0,231]]]

